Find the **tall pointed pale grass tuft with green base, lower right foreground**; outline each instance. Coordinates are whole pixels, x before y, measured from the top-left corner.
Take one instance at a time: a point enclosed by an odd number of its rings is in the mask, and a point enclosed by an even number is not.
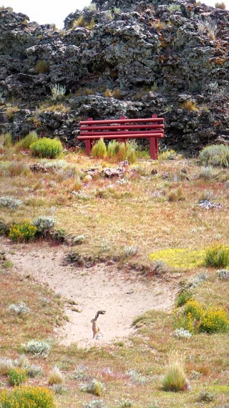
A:
[[[161,382],[164,391],[186,391],[189,383],[184,371],[184,354],[174,351],[170,353],[168,366]]]

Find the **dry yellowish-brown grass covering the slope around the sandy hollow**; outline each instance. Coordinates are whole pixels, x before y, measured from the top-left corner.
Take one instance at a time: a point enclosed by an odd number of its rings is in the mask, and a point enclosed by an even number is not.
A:
[[[15,158],[12,155],[13,150],[7,151],[0,166],[10,160],[9,157],[24,166],[38,161],[28,156],[18,154]],[[102,170],[104,166],[116,165],[104,160],[89,160],[80,154],[69,154],[65,161],[75,169],[73,173],[65,172],[65,166],[48,173],[10,175],[2,172],[2,195],[20,198],[23,205],[14,212],[0,209],[0,218],[5,222],[17,222],[27,218],[27,214],[33,219],[54,212],[56,227],[87,237],[77,247],[82,256],[96,259],[105,251],[107,257],[116,256],[124,262],[124,248],[136,247],[134,263],[148,266],[152,262],[149,254],[156,250],[187,248],[195,251],[216,241],[227,243],[226,170],[223,174],[219,170],[212,179],[205,180],[199,176],[200,168],[194,160],[191,163],[185,159],[140,161],[138,167],[129,167],[121,183],[99,174],[84,183],[90,168]],[[184,168],[187,177],[181,178]],[[152,174],[155,169],[157,174]],[[73,193],[79,184],[79,194]],[[184,199],[168,201],[169,192],[180,187]],[[211,191],[211,200],[222,203],[224,208],[200,209],[198,200],[204,190]],[[106,247],[104,242],[109,245]],[[60,324],[63,314],[60,298],[47,288],[35,285],[30,277],[21,278],[3,263],[0,269],[1,287],[4,288],[0,291],[1,353],[2,357],[13,359],[20,354],[21,343],[31,338],[53,338],[53,327]],[[174,276],[184,281],[198,271],[198,266],[189,270],[182,267],[179,275],[175,273],[169,279]],[[219,279],[213,269],[208,269],[208,273],[209,278],[193,289],[192,296],[207,305],[212,305],[214,299],[214,303],[227,310],[227,282]],[[8,309],[9,304],[19,300],[30,308],[30,313],[24,317],[15,316]],[[90,394],[80,392],[82,379],[73,376],[79,366],[83,366],[85,383],[93,378],[104,383],[106,391],[102,398],[108,408],[119,406],[115,401],[122,398],[134,401],[134,408],[148,408],[150,403],[163,408],[191,408],[205,387],[214,393],[214,401],[210,401],[208,407],[226,406],[227,335],[197,334],[190,339],[178,339],[173,336],[173,323],[173,314],[149,311],[136,319],[136,335],[127,341],[89,350],[79,349],[74,344],[64,347],[54,342],[49,355],[42,360],[43,377],[30,381],[48,385],[51,368],[60,367],[61,372],[65,372],[68,392],[55,395],[58,407],[81,408],[83,402],[92,401]],[[184,369],[191,385],[188,393],[164,392],[160,388],[165,362],[173,349],[186,355]],[[130,370],[135,372],[135,377],[130,375]],[[1,375],[0,380],[6,378]]]

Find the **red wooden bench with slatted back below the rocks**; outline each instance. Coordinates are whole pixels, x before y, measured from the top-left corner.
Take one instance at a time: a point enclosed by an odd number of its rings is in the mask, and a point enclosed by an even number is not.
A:
[[[78,140],[85,142],[85,152],[90,155],[91,148],[98,139],[117,139],[125,142],[127,139],[146,138],[150,141],[150,157],[158,157],[158,138],[164,137],[164,119],[152,115],[146,119],[93,120],[89,118],[79,122]]]

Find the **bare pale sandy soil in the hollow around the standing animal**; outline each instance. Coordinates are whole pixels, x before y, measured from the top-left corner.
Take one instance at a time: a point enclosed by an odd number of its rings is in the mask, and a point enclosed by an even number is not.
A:
[[[169,311],[177,292],[173,282],[155,276],[144,278],[114,265],[99,264],[91,268],[66,265],[64,257],[68,248],[65,246],[21,245],[4,240],[1,250],[18,273],[48,284],[66,300],[69,322],[56,330],[56,336],[67,345],[91,347],[123,339],[134,333],[131,327],[134,317],[151,309]],[[71,305],[69,300],[77,304]],[[97,320],[103,339],[92,340],[91,319],[101,309],[106,311]]]

